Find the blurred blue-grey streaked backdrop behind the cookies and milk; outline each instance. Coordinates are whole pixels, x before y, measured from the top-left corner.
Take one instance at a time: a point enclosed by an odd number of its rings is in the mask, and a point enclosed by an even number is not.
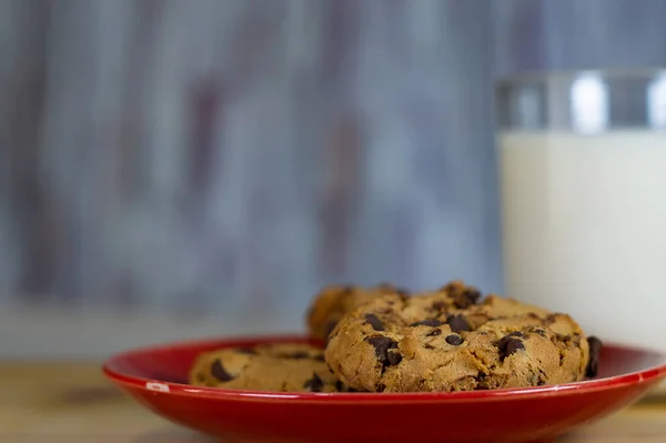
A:
[[[666,63],[666,0],[0,0],[0,356],[502,292],[493,80]]]

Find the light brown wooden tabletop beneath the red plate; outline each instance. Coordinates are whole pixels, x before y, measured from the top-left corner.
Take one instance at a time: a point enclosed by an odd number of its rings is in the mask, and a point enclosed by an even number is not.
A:
[[[90,362],[0,362],[0,443],[203,443],[134,404]],[[662,392],[563,443],[666,443]]]

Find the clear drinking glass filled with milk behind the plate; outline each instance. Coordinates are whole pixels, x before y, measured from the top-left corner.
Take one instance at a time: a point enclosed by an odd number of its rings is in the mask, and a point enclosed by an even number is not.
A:
[[[507,295],[666,350],[666,70],[496,87]]]

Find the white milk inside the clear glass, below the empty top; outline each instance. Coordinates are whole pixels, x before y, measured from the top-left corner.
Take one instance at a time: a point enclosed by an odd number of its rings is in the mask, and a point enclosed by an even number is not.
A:
[[[666,350],[666,132],[503,132],[507,295]]]

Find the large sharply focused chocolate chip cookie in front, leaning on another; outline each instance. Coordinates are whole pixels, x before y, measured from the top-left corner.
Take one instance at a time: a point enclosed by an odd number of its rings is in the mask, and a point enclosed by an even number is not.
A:
[[[488,295],[462,282],[431,294],[375,298],[345,315],[325,359],[371,392],[539,386],[594,376],[601,342],[568,315]]]

